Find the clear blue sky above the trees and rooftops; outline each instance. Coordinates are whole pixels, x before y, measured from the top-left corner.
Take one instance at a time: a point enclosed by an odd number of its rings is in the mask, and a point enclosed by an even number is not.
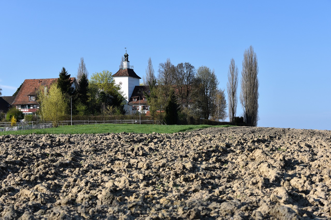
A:
[[[250,45],[259,65],[258,126],[331,130],[330,0],[0,0],[3,96],[24,79],[56,78],[62,67],[75,76],[80,57],[90,76],[116,73],[124,47],[140,77],[149,57],[156,73],[170,58],[214,69],[226,89],[231,58],[241,77]]]

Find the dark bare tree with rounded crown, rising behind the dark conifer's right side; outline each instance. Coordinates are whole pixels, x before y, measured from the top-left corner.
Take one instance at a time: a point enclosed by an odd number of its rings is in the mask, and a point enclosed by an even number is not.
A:
[[[176,83],[177,97],[183,108],[188,108],[191,101],[193,83],[196,70],[190,63],[179,63],[175,67],[174,82]]]

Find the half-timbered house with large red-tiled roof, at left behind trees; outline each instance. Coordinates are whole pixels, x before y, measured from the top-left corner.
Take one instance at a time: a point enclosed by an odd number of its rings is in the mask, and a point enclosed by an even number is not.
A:
[[[77,81],[74,77],[70,78],[72,81],[72,87],[77,88]],[[32,114],[35,115],[37,110],[40,108],[37,102],[37,95],[39,89],[47,91],[48,87],[56,82],[58,78],[52,79],[25,79],[20,91],[17,93],[12,106],[23,112],[24,115]]]

